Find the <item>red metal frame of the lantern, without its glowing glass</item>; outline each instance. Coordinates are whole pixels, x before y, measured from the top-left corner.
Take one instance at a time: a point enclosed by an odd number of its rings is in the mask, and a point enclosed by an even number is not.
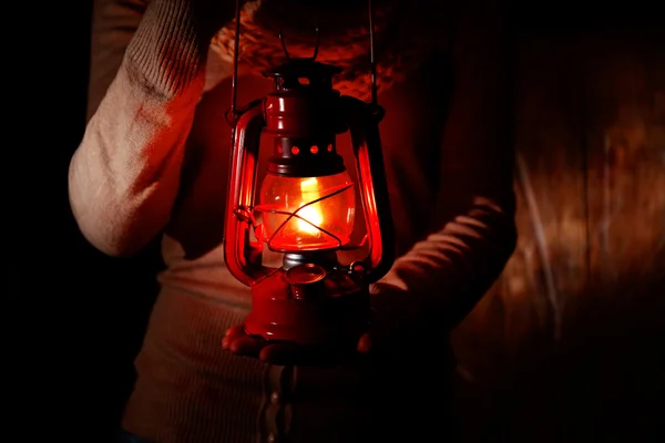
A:
[[[383,156],[381,141],[379,135],[379,122],[383,117],[383,109],[378,104],[377,99],[377,70],[374,51],[374,12],[371,0],[368,1],[369,14],[369,45],[370,45],[370,66],[371,66],[371,102],[367,103],[356,97],[340,95],[331,87],[330,91],[337,95],[330,95],[330,103],[334,105],[324,106],[330,113],[320,119],[331,119],[334,127],[332,136],[349,132],[351,145],[356,157],[356,172],[359,185],[361,205],[365,212],[366,236],[360,245],[348,246],[339,244],[339,248],[318,250],[318,251],[290,251],[284,255],[284,266],[282,268],[266,267],[262,264],[262,253],[266,238],[257,235],[258,224],[254,217],[256,210],[262,210],[260,205],[255,205],[255,189],[257,181],[257,165],[260,134],[272,126],[280,131],[290,125],[298,125],[298,116],[311,115],[311,109],[307,103],[291,103],[295,112],[293,114],[279,114],[277,107],[284,107],[285,97],[267,97],[256,100],[243,109],[237,106],[237,82],[238,82],[238,54],[241,37],[241,1],[236,0],[236,33],[233,61],[232,78],[232,105],[227,113],[227,121],[233,126],[233,146],[231,174],[228,177],[228,198],[225,217],[224,233],[224,255],[226,266],[231,274],[241,282],[252,287],[253,290],[253,311],[257,310],[246,319],[246,332],[250,334],[260,334],[266,339],[288,340],[301,342],[304,344],[316,344],[320,333],[310,332],[310,329],[318,328],[313,326],[311,316],[317,317],[318,321],[325,317],[340,316],[339,322],[332,321],[330,328],[345,328],[344,316],[350,313],[358,324],[366,321],[369,316],[369,291],[370,284],[380,279],[392,266],[395,259],[393,253],[393,225],[390,213],[390,202],[388,186],[385,176]],[[279,32],[279,39],[287,58],[287,64],[278,66],[264,73],[265,76],[273,76],[276,80],[276,87],[279,89],[284,81],[285,72],[291,68],[303,72],[314,72],[313,75],[319,75],[324,81],[327,75],[339,72],[336,66],[316,62],[318,53],[318,28],[317,44],[314,55],[309,59],[291,59],[288,54],[283,31]],[[286,70],[286,71],[285,71]],[[309,70],[309,71],[308,71]],[[331,80],[330,80],[331,81]],[[270,100],[278,101],[272,103]],[[318,102],[317,102],[318,103]],[[327,122],[327,121],[326,121]],[[329,145],[331,146],[331,145]],[[328,151],[332,151],[329,148]],[[279,147],[282,153],[282,148]],[[336,152],[327,153],[337,155]],[[337,155],[338,156],[338,155]],[[332,158],[332,157],[331,157]],[[341,162],[341,157],[339,157]],[[331,168],[325,173],[334,173],[335,162],[319,162],[319,166]],[[340,164],[344,169],[344,162]],[[287,154],[280,159],[273,162],[270,167],[278,173],[288,176],[317,176],[316,165],[307,163],[291,162]],[[282,169],[280,169],[282,168]],[[330,198],[331,195],[342,192],[335,192],[324,195],[321,198]],[[311,204],[308,203],[308,204]],[[287,220],[293,217],[301,218],[297,212],[287,213]],[[308,222],[308,220],[306,220]],[[286,222],[285,222],[286,223]],[[309,222],[308,222],[309,223]],[[316,226],[321,229],[319,226]],[[331,233],[327,233],[331,234]],[[268,239],[268,245],[269,244]],[[368,245],[367,257],[362,260],[354,261],[348,266],[342,266],[337,261],[336,250],[362,247]],[[291,275],[289,275],[289,271]],[[355,290],[349,297],[336,297],[335,300],[326,301],[321,297],[307,300],[306,293],[321,293],[326,291],[323,282],[327,272],[335,272],[342,276],[342,280],[351,282]],[[297,274],[297,277],[293,274]],[[285,281],[288,284],[286,287]],[[341,281],[341,280],[340,280]],[[262,292],[264,291],[264,292]],[[262,293],[269,292],[270,296],[262,297]],[[283,303],[280,297],[273,296],[287,291],[288,297],[297,299],[297,302]],[[304,297],[300,297],[303,295]],[[259,306],[260,305],[260,306]],[[325,316],[321,309],[329,310]],[[346,313],[345,313],[346,312]],[[276,316],[275,319],[270,316]],[[323,317],[321,317],[323,316]],[[326,320],[328,321],[328,320]],[[248,323],[254,322],[254,327]],[[280,322],[287,326],[283,328]],[[300,327],[299,323],[309,326]],[[325,327],[325,326],[324,326]],[[325,340],[324,340],[325,341]]]

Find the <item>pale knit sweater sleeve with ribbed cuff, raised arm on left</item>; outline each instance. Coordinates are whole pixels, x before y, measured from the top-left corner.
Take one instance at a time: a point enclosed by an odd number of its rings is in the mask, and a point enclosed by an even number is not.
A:
[[[91,70],[91,101],[101,99],[70,163],[79,227],[113,256],[139,251],[170,219],[212,37],[201,25],[205,11],[193,10],[195,0],[145,3],[95,4],[103,10],[94,14],[93,50],[102,60]],[[228,21],[234,3],[219,4],[229,6],[222,11]],[[116,70],[114,60],[121,61]]]

